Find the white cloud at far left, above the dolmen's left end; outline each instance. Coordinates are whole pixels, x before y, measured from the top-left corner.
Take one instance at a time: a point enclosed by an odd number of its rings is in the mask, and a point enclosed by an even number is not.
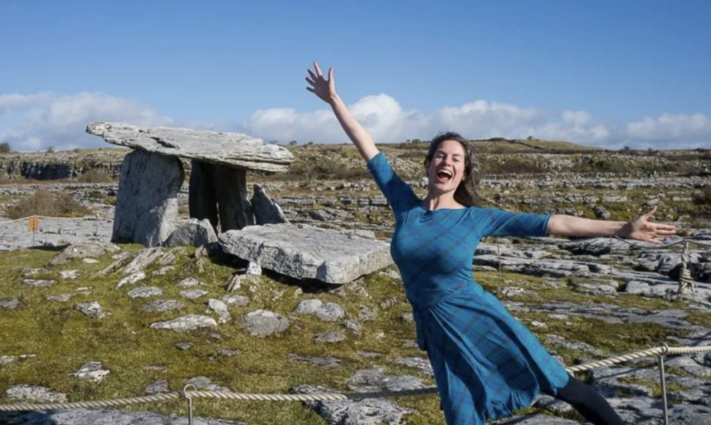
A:
[[[16,151],[107,146],[97,136],[85,134],[92,121],[117,121],[137,125],[167,125],[154,109],[131,99],[104,93],[81,92],[77,95],[0,95],[0,141]]]

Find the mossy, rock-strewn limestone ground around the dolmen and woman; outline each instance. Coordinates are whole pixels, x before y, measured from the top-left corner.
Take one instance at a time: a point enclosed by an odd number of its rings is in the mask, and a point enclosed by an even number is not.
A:
[[[409,167],[404,159],[400,163]],[[390,237],[392,216],[367,180],[254,180],[292,222]],[[410,183],[424,191],[419,179]],[[696,291],[678,299],[679,244],[483,241],[474,259],[477,281],[561,362],[573,365],[661,343],[711,345],[711,230],[698,225],[708,207],[696,202],[707,177],[548,173],[483,183],[492,205],[512,210],[626,219],[658,205],[660,220],[677,223],[691,242],[700,242],[688,252]],[[434,384],[393,267],[351,284],[324,285],[267,270],[259,274],[215,247],[109,244],[116,193],[111,183],[11,183],[0,185],[0,203],[8,205],[39,185],[70,191],[95,217],[41,219],[34,244],[26,221],[0,222],[0,403],[132,397],[179,391],[188,383],[277,393]],[[179,196],[186,205],[186,187]],[[670,423],[711,421],[711,355],[669,357],[666,371]],[[579,377],[594,384],[626,421],[662,423],[655,358]],[[0,413],[0,421],[178,424],[186,423],[184,412],[184,402],[163,402],[121,411]],[[198,399],[196,414],[202,417],[198,424],[444,423],[434,395],[309,404]],[[534,407],[500,423],[579,420],[566,404],[540,397]]]

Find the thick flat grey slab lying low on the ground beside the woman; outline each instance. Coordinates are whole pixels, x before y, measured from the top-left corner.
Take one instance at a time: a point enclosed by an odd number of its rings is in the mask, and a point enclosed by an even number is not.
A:
[[[346,284],[392,264],[390,244],[303,225],[247,226],[219,237],[220,245],[242,259],[296,279]]]

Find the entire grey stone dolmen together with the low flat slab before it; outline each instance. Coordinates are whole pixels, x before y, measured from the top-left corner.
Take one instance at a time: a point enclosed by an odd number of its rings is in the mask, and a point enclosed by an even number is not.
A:
[[[134,149],[121,165],[112,242],[148,247],[219,242],[223,252],[296,279],[345,284],[392,264],[390,244],[363,230],[289,224],[247,171],[286,171],[283,146],[245,134],[92,122],[87,133]],[[177,227],[178,190],[191,159],[190,220]],[[218,239],[218,235],[219,239]]]

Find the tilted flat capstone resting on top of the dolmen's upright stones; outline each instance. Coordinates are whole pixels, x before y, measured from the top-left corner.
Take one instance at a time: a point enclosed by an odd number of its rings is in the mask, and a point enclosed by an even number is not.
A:
[[[246,134],[137,127],[120,122],[92,122],[86,131],[110,144],[245,170],[287,171],[294,161],[292,153],[283,146],[264,145],[262,139]]]

